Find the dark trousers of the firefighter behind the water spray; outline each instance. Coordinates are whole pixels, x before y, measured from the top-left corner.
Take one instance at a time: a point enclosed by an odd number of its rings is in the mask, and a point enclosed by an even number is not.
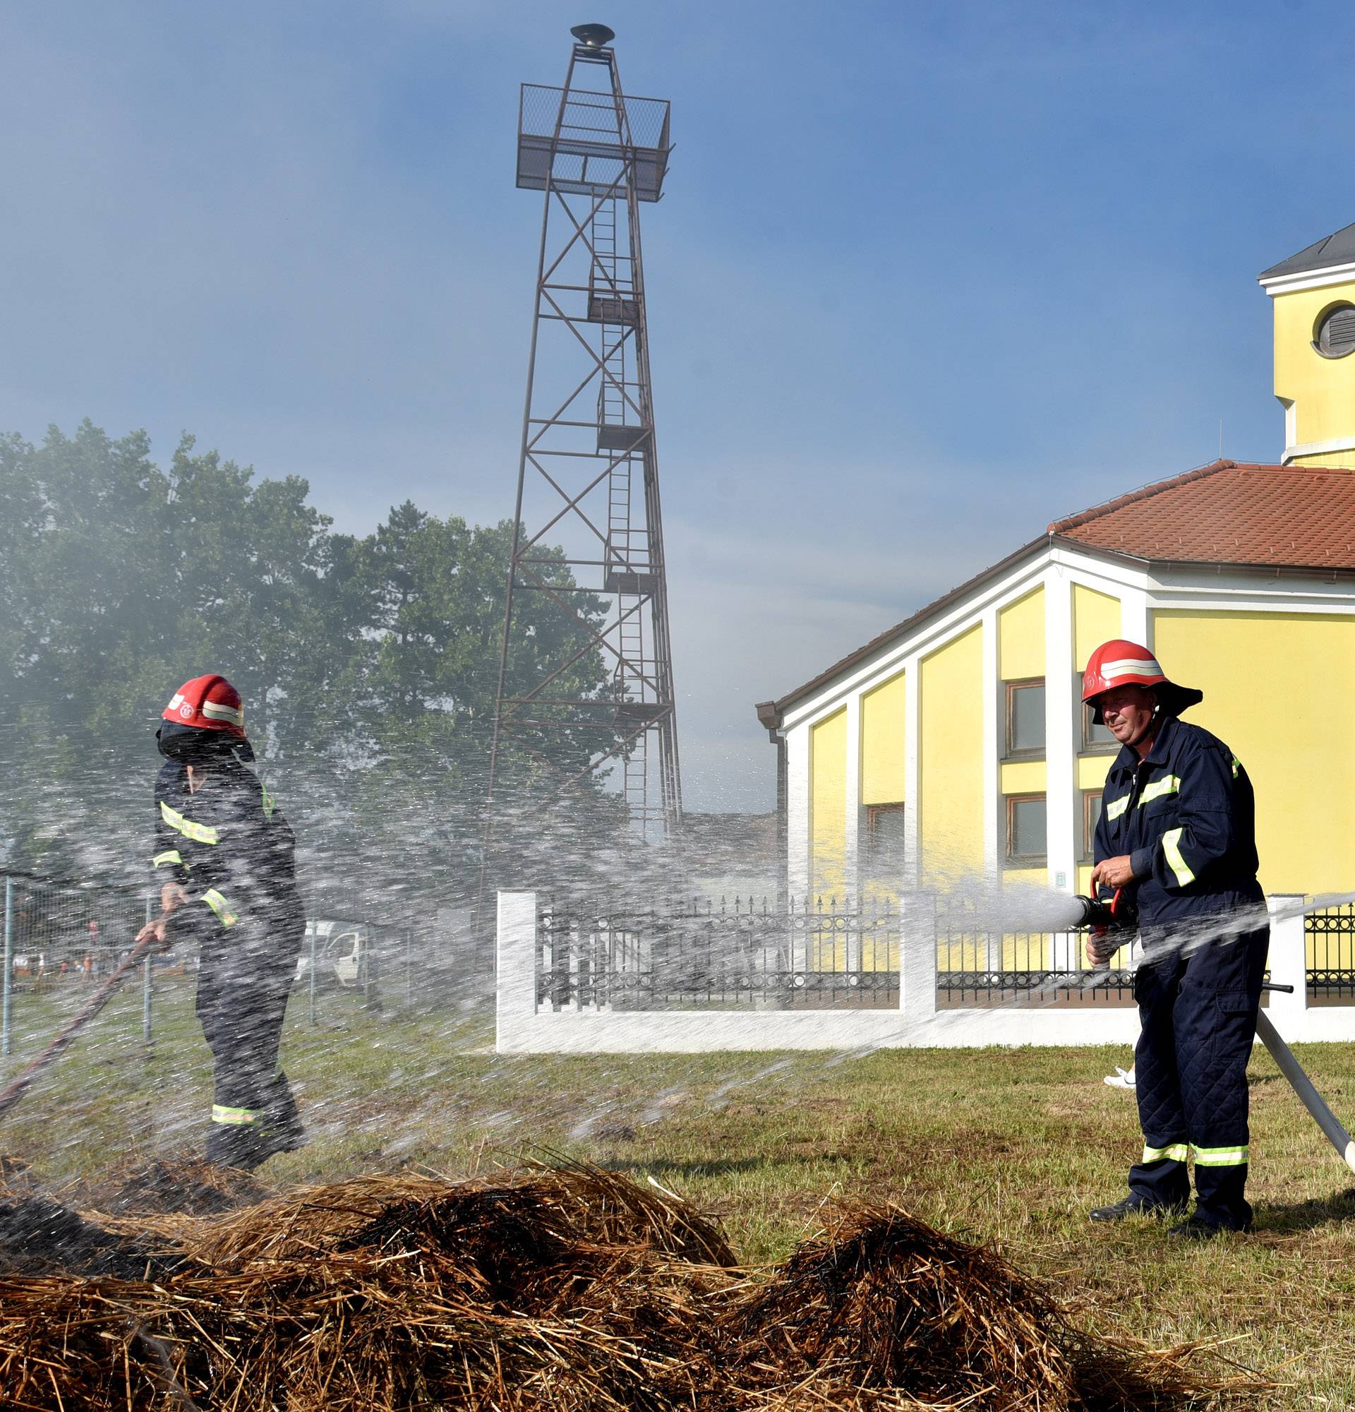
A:
[[[278,1045],[303,926],[246,921],[202,940],[196,1008],[215,1060],[209,1162],[253,1169],[299,1145]]]

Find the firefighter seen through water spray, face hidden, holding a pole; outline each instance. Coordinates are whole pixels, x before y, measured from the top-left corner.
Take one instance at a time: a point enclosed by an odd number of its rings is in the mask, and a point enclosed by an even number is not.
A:
[[[253,1171],[305,1132],[278,1043],[305,935],[295,839],[246,761],[240,693],[186,682],[157,733],[154,867],[161,916],[138,936],[199,943],[198,1018],[215,1060],[207,1161]]]

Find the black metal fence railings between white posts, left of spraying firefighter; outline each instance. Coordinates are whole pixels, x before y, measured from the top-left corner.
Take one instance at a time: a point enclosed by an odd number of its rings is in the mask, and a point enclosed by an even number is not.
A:
[[[1083,933],[980,932],[929,898],[901,909],[888,897],[548,899],[536,998],[552,1010],[896,1008],[905,935],[934,939],[939,1008],[1133,1003],[1131,971],[1092,969]]]

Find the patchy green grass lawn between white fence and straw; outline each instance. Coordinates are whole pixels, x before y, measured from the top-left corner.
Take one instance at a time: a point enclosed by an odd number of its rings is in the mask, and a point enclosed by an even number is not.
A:
[[[16,1053],[56,1004],[20,997]],[[284,1062],[313,1141],[261,1169],[282,1185],[399,1166],[459,1175],[548,1151],[652,1178],[720,1216],[751,1262],[783,1257],[826,1202],[893,1200],[1049,1276],[1084,1317],[1155,1343],[1198,1340],[1283,1387],[1258,1405],[1355,1405],[1355,1189],[1260,1046],[1252,1062],[1258,1228],[1176,1248],[1135,1220],[1097,1228],[1140,1138],[1101,1076],[1118,1049],[498,1058],[483,1017],[364,1014],[294,1000]],[[1355,1046],[1299,1051],[1355,1123]],[[209,1056],[186,987],[140,1042],[128,993],[6,1120],[0,1152],[52,1185],[200,1149]]]

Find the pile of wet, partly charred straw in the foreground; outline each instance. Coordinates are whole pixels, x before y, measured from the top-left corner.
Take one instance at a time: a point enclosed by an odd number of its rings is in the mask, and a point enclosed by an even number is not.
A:
[[[1081,1332],[1004,1260],[895,1207],[845,1210],[749,1271],[682,1200],[593,1168],[373,1176],[198,1216],[0,1199],[7,1408],[1109,1412],[1246,1394],[1194,1365]]]

